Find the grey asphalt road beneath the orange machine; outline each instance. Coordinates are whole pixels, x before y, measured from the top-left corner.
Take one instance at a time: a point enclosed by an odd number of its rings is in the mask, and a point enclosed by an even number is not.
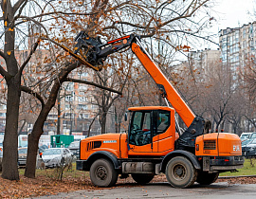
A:
[[[256,185],[229,185],[228,183],[213,183],[210,186],[194,184],[190,189],[174,189],[168,183],[151,183],[146,186],[128,184],[104,190],[77,190],[58,195],[38,197],[38,199],[56,198],[229,198],[244,199],[256,198]]]

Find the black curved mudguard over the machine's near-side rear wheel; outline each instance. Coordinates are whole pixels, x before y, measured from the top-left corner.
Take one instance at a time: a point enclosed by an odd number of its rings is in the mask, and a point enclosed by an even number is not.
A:
[[[201,170],[201,166],[194,154],[187,152],[187,151],[183,151],[183,150],[175,150],[174,152],[166,154],[163,157],[162,163],[160,165],[160,172],[165,172],[165,168],[166,168],[166,165],[168,164],[169,160],[175,156],[187,157],[192,162],[192,165],[196,170]]]

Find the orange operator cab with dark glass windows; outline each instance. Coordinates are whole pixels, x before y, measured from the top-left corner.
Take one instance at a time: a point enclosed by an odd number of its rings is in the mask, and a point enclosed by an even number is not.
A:
[[[132,107],[128,143],[130,152],[158,153],[162,139],[175,136],[171,122],[174,109],[164,106]],[[169,143],[169,145],[171,145]],[[132,153],[133,154],[133,153]],[[145,154],[146,155],[146,154]]]

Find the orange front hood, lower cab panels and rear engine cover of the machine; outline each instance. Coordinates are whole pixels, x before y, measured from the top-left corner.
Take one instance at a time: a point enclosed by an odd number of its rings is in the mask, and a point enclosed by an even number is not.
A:
[[[109,152],[122,159],[128,158],[129,155],[164,156],[174,151],[175,139],[173,126],[164,134],[154,137],[153,148],[151,144],[129,145],[127,134],[91,136],[81,141],[81,159],[86,160],[91,154],[100,151]],[[241,139],[234,134],[213,133],[198,136],[195,145],[196,156],[242,155]]]

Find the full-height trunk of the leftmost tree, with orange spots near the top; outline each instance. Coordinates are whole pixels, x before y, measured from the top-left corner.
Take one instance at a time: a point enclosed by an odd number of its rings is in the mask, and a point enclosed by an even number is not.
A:
[[[2,177],[9,180],[19,180],[17,148],[21,74],[19,73],[18,65],[13,52],[15,40],[13,23],[14,10],[11,8],[9,1],[4,2],[2,9],[4,10],[3,17],[6,29],[4,55],[6,57],[6,64],[8,68],[8,76],[5,76],[5,80],[7,81],[8,85],[8,99],[6,129],[3,143],[4,152],[2,162]]]

